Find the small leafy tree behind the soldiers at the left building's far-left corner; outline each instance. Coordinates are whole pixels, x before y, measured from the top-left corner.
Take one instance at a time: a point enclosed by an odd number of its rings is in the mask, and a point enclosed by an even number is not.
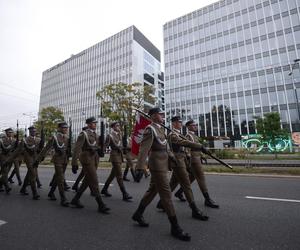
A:
[[[63,112],[53,106],[43,108],[39,114],[39,119],[34,122],[34,126],[40,132],[42,126],[44,126],[44,132],[46,138],[52,135],[57,129],[57,123],[63,121]]]

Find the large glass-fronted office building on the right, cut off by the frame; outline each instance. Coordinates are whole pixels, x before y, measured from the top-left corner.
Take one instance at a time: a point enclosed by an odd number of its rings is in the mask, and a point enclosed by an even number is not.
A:
[[[167,117],[234,140],[277,111],[284,128],[300,131],[299,13],[298,0],[222,0],[167,22]]]

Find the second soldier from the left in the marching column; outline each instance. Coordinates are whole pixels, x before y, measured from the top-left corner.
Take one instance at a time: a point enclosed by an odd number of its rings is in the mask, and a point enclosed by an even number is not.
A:
[[[26,187],[29,184],[31,186],[33,199],[38,200],[40,195],[38,194],[36,187],[37,170],[34,166],[34,162],[38,153],[42,150],[43,145],[41,144],[40,138],[36,137],[35,127],[30,126],[28,130],[29,136],[23,138],[17,150],[11,155],[10,160],[14,160],[17,157],[20,157],[20,155],[23,155],[24,162],[27,166],[27,173],[24,178],[20,193],[23,195],[28,195]]]

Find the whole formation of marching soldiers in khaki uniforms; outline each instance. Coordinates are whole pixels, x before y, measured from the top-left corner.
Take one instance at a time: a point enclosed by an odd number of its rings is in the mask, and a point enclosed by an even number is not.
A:
[[[82,128],[74,145],[71,143],[71,129],[64,121],[57,123],[57,130],[48,138],[47,143],[44,132],[39,131],[40,137],[37,136],[37,129],[34,126],[28,128],[29,135],[21,140],[18,130],[15,133],[11,128],[5,129],[5,136],[0,139],[0,192],[7,195],[11,193],[10,184],[14,183],[13,176],[16,175],[18,185],[21,186],[20,194],[28,196],[27,188],[30,186],[33,200],[39,200],[38,189],[41,188],[41,183],[38,178],[38,166],[51,151],[54,173],[48,199],[55,201],[57,199],[55,191],[58,189],[62,207],[84,208],[80,198],[89,188],[91,196],[97,203],[98,212],[109,214],[110,208],[104,203],[103,197],[112,196],[109,192],[111,182],[116,178],[122,200],[131,202],[133,197],[125,187],[125,182],[129,181],[128,172],[135,182],[140,182],[144,175],[148,176],[146,169],[149,168],[151,174],[149,188],[133,213],[132,220],[141,227],[148,227],[149,223],[144,218],[144,212],[158,194],[160,200],[156,207],[167,214],[171,235],[182,241],[190,241],[190,234],[180,227],[176,217],[172,192],[180,186],[175,192],[175,197],[188,202],[192,218],[200,221],[209,219],[198,208],[191,184],[196,180],[203,194],[205,206],[219,208],[219,205],[210,198],[201,164],[203,153],[210,155],[210,152],[199,142],[196,135],[197,124],[193,120],[186,122],[187,133],[184,135],[181,133],[183,124],[179,116],[171,118],[172,129],[170,129],[164,125],[164,113],[159,108],[150,109],[148,114],[141,113],[149,120],[149,124],[143,130],[135,166],[135,157],[131,150],[134,136],[133,133],[129,138],[124,136],[126,131],[122,131],[120,121],[110,123],[110,132],[104,138],[104,131],[101,131],[101,135],[96,133],[97,120],[94,117],[86,119],[86,126]],[[100,157],[104,156],[106,149],[109,149],[109,162],[112,168],[104,187],[99,190],[97,168]],[[27,167],[23,181],[19,170],[22,162]],[[65,180],[69,162],[73,174],[77,174],[79,166],[82,167],[72,187],[69,187]],[[122,173],[124,162],[126,168]],[[171,178],[169,178],[170,171],[172,171]],[[68,199],[66,195],[66,191],[70,188],[75,191],[72,199]]]

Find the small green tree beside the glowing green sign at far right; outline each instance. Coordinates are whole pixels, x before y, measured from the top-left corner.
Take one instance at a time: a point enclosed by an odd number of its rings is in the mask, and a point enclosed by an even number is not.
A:
[[[278,149],[276,147],[279,138],[288,138],[288,131],[281,128],[280,114],[278,112],[267,113],[264,117],[256,120],[257,133],[261,135],[264,141],[268,141],[274,148],[275,158],[277,158]]]

